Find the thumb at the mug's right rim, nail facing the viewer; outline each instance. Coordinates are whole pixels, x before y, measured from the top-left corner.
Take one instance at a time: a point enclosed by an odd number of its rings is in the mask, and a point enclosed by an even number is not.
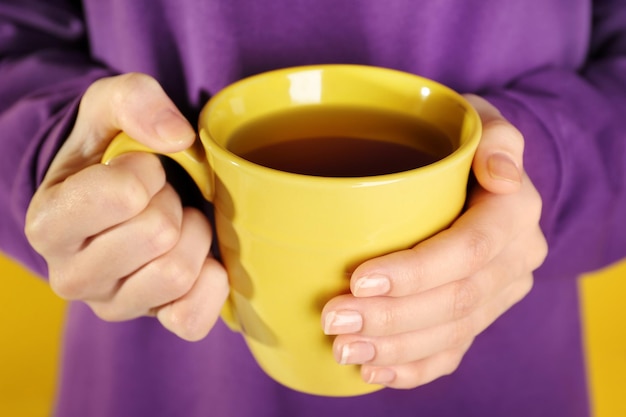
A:
[[[472,169],[487,191],[508,194],[522,185],[524,138],[487,100],[465,95],[480,115],[483,133]]]

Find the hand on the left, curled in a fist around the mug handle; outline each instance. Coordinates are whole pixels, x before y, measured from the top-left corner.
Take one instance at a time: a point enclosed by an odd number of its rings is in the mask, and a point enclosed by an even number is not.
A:
[[[27,237],[59,296],[86,302],[107,321],[156,316],[181,338],[199,340],[228,294],[226,272],[209,254],[210,223],[182,206],[156,156],[131,153],[100,164],[120,131],[162,153],[195,140],[153,78],[95,82],[31,201]]]

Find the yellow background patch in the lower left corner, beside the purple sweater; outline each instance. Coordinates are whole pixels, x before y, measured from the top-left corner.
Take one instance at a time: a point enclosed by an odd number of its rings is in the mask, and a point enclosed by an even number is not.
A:
[[[0,416],[49,416],[65,303],[0,256],[0,306]]]

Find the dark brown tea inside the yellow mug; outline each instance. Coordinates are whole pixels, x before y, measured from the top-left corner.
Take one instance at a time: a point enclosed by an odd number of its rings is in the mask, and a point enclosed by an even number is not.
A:
[[[233,134],[229,150],[284,172],[367,177],[430,165],[450,139],[415,116],[367,108],[306,106],[259,118]]]

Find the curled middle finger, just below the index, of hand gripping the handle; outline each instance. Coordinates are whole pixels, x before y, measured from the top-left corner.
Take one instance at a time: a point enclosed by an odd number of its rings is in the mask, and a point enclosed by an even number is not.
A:
[[[69,268],[63,276],[51,277],[51,285],[66,299],[109,301],[119,290],[120,279],[139,273],[181,244],[183,226],[180,199],[168,185],[142,213],[90,239],[65,264]]]

